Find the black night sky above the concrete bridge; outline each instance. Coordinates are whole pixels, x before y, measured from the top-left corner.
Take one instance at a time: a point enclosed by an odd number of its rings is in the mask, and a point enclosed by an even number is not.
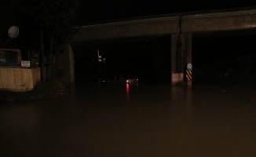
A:
[[[216,9],[256,6],[255,0],[96,0],[81,1],[77,24],[90,24],[171,13],[186,13]]]

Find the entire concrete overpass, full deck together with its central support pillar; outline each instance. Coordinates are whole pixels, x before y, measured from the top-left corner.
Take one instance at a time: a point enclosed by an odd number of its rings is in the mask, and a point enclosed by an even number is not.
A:
[[[255,33],[256,9],[214,13],[183,13],[82,26],[73,44],[170,35],[171,82],[183,82],[184,67],[192,63],[192,37],[220,32]]]

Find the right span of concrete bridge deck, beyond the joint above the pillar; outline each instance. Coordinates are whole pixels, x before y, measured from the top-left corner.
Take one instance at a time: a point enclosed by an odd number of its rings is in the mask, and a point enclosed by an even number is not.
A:
[[[256,27],[256,9],[181,16],[181,32],[240,31]]]

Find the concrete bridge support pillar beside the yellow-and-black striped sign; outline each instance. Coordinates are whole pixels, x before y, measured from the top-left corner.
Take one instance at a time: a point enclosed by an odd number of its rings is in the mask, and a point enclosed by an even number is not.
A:
[[[185,84],[184,71],[186,65],[192,63],[192,34],[171,35],[170,53],[171,84]]]

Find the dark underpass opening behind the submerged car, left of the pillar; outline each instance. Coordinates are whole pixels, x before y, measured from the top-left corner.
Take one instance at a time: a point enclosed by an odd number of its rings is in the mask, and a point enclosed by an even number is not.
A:
[[[113,74],[137,75],[140,82],[170,82],[170,35],[73,44],[72,49],[75,82],[99,83]]]

